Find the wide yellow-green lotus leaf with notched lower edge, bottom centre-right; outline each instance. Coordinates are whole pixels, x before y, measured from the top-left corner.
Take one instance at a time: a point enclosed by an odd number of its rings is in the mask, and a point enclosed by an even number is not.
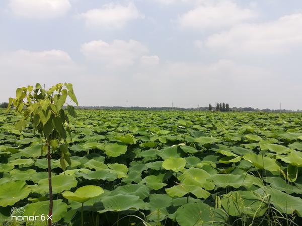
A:
[[[171,188],[166,188],[165,190],[167,194],[169,194],[171,197],[175,197],[175,196],[183,197],[188,193],[194,194],[197,198],[204,198],[204,199],[210,196],[210,192],[196,185],[180,184],[180,185],[175,185]]]

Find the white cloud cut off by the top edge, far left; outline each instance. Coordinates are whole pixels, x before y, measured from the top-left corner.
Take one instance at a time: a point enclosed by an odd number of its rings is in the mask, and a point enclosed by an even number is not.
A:
[[[17,16],[49,19],[65,15],[71,5],[69,0],[10,0],[9,7]]]

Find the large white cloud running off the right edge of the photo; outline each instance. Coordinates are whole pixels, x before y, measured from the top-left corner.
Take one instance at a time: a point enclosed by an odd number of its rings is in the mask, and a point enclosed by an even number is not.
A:
[[[208,37],[204,45],[227,55],[287,53],[302,46],[301,28],[302,14],[294,14],[269,23],[238,25]]]

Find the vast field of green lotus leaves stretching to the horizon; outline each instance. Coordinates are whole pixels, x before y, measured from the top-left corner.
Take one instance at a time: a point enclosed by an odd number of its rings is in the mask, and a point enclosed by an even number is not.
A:
[[[55,225],[302,225],[300,114],[76,113],[71,165],[51,155]],[[46,225],[45,139],[17,121],[0,111],[0,224]]]

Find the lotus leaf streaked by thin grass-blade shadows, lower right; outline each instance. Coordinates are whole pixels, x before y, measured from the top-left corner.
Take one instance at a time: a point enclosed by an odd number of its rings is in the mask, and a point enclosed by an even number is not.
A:
[[[223,195],[221,205],[231,216],[262,216],[268,208],[252,191],[231,191]]]

